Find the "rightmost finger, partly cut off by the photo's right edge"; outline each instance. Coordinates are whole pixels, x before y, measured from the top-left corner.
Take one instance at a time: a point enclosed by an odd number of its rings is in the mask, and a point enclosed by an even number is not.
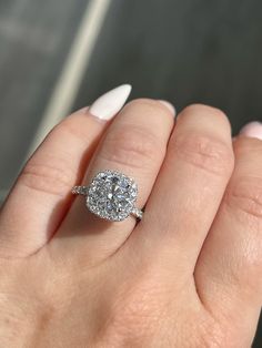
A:
[[[262,139],[262,126],[260,132]],[[241,323],[251,339],[262,305],[262,141],[240,136],[234,152],[234,173],[203,245],[195,283],[206,307]]]

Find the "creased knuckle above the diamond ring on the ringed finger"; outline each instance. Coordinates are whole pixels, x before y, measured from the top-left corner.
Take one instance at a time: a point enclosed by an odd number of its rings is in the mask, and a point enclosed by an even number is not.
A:
[[[119,127],[109,133],[101,157],[130,167],[151,167],[161,154],[161,141],[140,127]]]

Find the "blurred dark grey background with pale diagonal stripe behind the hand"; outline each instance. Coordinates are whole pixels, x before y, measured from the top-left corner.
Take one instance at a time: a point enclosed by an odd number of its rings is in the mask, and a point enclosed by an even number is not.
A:
[[[0,0],[0,202],[53,124],[118,84],[221,108],[234,134],[262,121],[261,61],[261,0]]]

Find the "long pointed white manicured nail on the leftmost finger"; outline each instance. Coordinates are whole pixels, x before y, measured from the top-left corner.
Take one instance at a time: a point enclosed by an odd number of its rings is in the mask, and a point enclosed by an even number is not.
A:
[[[100,120],[111,120],[123,106],[132,86],[122,84],[101,95],[89,108],[89,112]]]

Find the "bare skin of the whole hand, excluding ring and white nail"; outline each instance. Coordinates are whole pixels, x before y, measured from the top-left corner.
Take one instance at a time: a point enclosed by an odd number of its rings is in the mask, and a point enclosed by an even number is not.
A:
[[[135,178],[135,225],[71,195]],[[191,105],[79,111],[29,160],[0,214],[0,347],[250,347],[262,303],[262,141]]]

